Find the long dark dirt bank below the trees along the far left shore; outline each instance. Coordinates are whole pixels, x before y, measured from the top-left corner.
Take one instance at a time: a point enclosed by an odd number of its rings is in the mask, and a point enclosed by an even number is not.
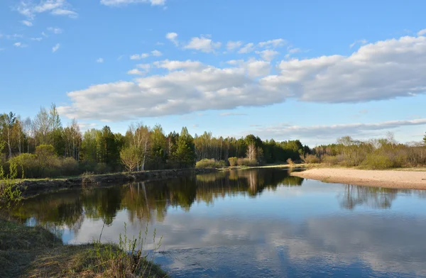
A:
[[[203,174],[217,171],[217,169],[165,169],[155,171],[96,174],[87,177],[73,177],[70,179],[36,179],[18,182],[23,190],[22,196],[28,198],[37,194],[49,193],[62,189],[79,187],[104,187],[112,184],[124,184],[126,182],[142,182],[152,179],[167,179],[180,177],[187,174]]]

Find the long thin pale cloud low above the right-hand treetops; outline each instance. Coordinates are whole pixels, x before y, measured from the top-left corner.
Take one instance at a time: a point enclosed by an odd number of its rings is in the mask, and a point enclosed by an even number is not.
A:
[[[426,125],[426,118],[403,121],[385,121],[381,123],[347,123],[332,126],[290,126],[280,124],[278,126],[268,126],[251,130],[249,133],[256,133],[263,138],[274,138],[284,140],[285,138],[329,138],[335,139],[345,135],[356,136],[372,130],[387,130],[400,128],[401,126]]]

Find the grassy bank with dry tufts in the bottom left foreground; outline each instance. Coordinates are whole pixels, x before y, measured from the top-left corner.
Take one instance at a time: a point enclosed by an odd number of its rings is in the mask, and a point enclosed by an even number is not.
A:
[[[139,255],[139,257],[138,257]],[[0,218],[0,277],[166,277],[119,245],[63,245],[48,230]]]

